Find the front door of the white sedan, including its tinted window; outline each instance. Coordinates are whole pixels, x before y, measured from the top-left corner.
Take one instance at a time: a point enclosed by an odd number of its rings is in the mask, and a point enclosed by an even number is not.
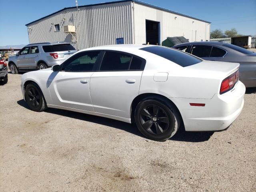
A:
[[[54,105],[94,111],[90,96],[90,77],[100,52],[81,52],[66,60],[59,72],[52,72],[48,87]]]

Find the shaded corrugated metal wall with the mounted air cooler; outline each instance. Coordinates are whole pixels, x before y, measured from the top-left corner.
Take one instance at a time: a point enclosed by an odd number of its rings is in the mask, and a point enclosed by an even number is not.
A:
[[[64,10],[28,26],[30,43],[71,42],[71,34],[65,34],[63,26],[77,26],[76,49],[116,44],[116,38],[132,43],[131,2],[120,2],[98,6]],[[60,31],[54,25],[60,24]]]

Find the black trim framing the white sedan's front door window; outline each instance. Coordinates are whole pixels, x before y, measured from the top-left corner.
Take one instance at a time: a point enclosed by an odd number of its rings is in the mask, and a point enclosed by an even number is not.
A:
[[[69,62],[73,58],[74,58],[74,60],[76,60],[77,58],[80,57],[81,54],[88,53],[88,52],[100,52],[99,55],[98,55],[98,58],[96,59],[96,62],[94,64],[93,70],[91,70],[91,71],[64,71],[63,70],[63,66],[66,62]],[[61,67],[60,71],[61,72],[96,72],[97,69],[98,69],[98,66],[100,64],[101,59],[102,59],[102,51],[101,50],[88,50],[88,51],[79,52],[78,54],[68,58],[66,61],[64,61],[62,64],[60,64],[60,67]],[[72,61],[74,61],[74,60],[72,60]]]

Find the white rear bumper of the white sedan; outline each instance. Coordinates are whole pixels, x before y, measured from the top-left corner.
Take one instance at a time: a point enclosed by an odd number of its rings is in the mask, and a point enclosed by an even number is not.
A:
[[[212,99],[170,98],[178,106],[186,131],[220,131],[236,120],[244,106],[245,86],[238,82],[229,92]],[[204,103],[204,107],[189,103]]]

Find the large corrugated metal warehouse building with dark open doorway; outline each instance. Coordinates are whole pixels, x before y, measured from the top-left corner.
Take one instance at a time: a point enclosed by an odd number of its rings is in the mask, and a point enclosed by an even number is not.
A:
[[[210,22],[137,0],[64,8],[26,24],[30,43],[71,42],[76,49],[158,44],[167,37],[210,39]]]

